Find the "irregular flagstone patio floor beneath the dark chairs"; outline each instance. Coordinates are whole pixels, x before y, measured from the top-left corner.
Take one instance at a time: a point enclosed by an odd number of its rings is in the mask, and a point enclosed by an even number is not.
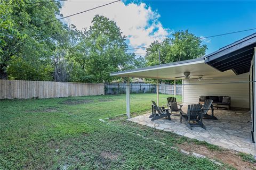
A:
[[[182,107],[186,113],[186,105]],[[218,120],[203,120],[206,130],[193,127],[190,130],[185,123],[180,123],[180,114],[173,113],[171,121],[162,118],[150,121],[151,113],[129,118],[129,121],[156,128],[159,130],[170,131],[188,138],[209,142],[227,149],[245,152],[256,155],[255,145],[251,138],[251,118],[250,114],[242,109],[227,111],[225,109],[214,110],[214,116]],[[210,111],[209,111],[209,114]]]

